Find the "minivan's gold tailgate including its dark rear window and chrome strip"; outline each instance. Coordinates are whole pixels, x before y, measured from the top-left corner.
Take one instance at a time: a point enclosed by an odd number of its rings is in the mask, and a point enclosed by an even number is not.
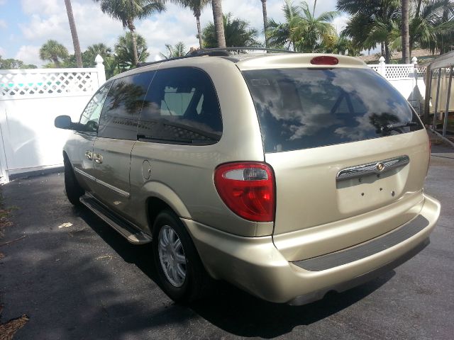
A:
[[[378,74],[359,68],[243,74],[265,161],[275,170],[275,235],[336,224],[421,195],[426,132],[405,98]],[[387,213],[392,222],[357,232],[353,244],[412,217]]]

